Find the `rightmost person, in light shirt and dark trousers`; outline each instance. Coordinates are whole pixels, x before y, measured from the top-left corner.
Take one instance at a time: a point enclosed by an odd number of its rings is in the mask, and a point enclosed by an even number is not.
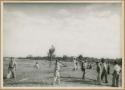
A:
[[[121,67],[118,65],[117,61],[114,62],[114,70],[113,70],[113,78],[112,78],[112,86],[118,87],[119,86],[119,76],[121,72]]]

